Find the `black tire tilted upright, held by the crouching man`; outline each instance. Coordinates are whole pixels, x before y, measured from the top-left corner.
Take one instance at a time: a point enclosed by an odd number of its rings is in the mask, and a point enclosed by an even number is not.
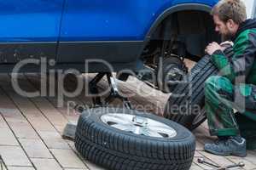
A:
[[[227,57],[232,56],[232,48],[227,48],[224,54]],[[204,83],[213,75],[218,75],[218,70],[212,64],[211,56],[206,55],[172,91],[166,103],[164,116],[190,130],[200,126],[207,119],[204,109]]]

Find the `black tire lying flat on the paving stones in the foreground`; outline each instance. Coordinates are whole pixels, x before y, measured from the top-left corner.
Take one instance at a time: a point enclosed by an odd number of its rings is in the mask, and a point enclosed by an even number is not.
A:
[[[102,121],[103,116],[113,114],[139,116],[139,121],[146,117],[172,127],[177,135],[167,138],[159,133],[164,137],[160,138],[119,130],[111,127],[116,119]],[[79,117],[75,146],[85,159],[111,170],[187,170],[195,154],[195,137],[187,128],[160,116],[123,108],[96,108]]]

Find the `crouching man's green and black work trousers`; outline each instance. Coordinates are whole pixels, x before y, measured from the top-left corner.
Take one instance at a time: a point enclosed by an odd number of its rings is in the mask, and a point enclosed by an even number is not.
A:
[[[212,76],[205,82],[207,121],[211,135],[236,136],[240,134],[235,114],[249,114],[256,120],[256,92],[253,85],[233,85],[226,77]]]

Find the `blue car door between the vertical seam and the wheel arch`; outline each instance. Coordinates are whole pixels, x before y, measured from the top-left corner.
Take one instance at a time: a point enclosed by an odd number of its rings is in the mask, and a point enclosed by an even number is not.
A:
[[[154,20],[173,0],[66,0],[58,62],[130,63]],[[194,0],[191,0],[194,1]]]

